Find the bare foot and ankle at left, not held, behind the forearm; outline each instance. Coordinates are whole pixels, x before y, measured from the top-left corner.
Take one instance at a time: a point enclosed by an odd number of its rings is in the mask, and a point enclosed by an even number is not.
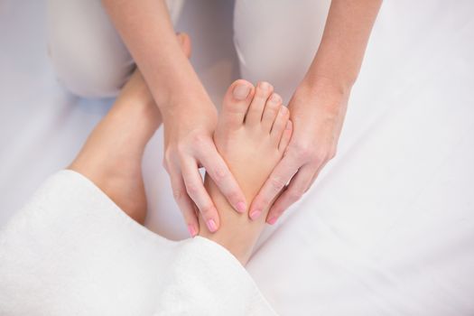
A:
[[[189,56],[188,35],[179,34],[178,40]],[[140,71],[135,70],[69,169],[93,181],[128,216],[143,224],[147,206],[142,158],[145,145],[161,123],[160,111]]]

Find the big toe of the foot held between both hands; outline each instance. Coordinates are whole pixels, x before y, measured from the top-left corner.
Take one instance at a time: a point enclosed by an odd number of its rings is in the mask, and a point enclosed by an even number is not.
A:
[[[230,129],[242,126],[253,95],[250,82],[239,79],[231,84],[222,103],[219,124]]]

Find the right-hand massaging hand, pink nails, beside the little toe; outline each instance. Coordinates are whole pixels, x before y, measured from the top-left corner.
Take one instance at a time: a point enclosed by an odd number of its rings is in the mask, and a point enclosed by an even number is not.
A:
[[[267,223],[274,224],[311,187],[336,153],[348,98],[349,92],[341,92],[326,79],[319,79],[317,84],[303,81],[297,88],[288,106],[293,121],[292,140],[252,202],[250,218],[258,218],[283,190],[266,217]]]

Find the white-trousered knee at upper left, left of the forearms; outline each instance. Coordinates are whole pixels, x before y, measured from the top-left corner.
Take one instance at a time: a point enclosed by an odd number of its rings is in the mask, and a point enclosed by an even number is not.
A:
[[[183,0],[166,1],[176,21]],[[48,0],[48,50],[60,82],[85,98],[115,97],[135,63],[99,0]]]

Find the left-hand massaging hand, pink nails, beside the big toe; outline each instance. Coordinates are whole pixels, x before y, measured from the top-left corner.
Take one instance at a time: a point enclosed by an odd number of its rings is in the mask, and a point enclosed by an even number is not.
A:
[[[246,211],[246,199],[213,141],[218,114],[204,88],[173,96],[172,105],[162,110],[164,125],[163,165],[172,182],[178,203],[192,237],[199,232],[199,210],[210,232],[219,228],[218,210],[204,188],[200,167],[204,167],[229,204]]]

